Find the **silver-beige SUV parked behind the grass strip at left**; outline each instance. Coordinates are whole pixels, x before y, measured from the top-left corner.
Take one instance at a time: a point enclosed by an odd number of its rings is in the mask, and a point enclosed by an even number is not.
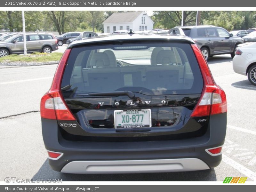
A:
[[[27,52],[51,53],[59,49],[57,39],[50,33],[26,33]],[[19,33],[0,42],[0,57],[24,53],[23,34]]]

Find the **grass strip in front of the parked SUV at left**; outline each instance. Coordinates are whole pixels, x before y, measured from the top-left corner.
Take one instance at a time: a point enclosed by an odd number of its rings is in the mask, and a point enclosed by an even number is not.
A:
[[[59,61],[62,56],[62,53],[39,53],[34,52],[32,54],[28,55],[17,55],[12,54],[8,55],[6,57],[0,58],[0,63],[6,63],[6,62],[47,62],[47,61]]]

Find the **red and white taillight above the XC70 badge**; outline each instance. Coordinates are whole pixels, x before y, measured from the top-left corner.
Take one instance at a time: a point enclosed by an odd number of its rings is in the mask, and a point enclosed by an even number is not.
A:
[[[70,51],[71,49],[67,49],[64,52],[53,77],[51,89],[41,99],[40,113],[42,118],[71,121],[76,120],[68,109],[61,93],[61,79]]]

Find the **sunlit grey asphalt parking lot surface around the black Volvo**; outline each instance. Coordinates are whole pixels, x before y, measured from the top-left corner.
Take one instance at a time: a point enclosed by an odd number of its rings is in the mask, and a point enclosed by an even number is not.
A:
[[[246,76],[233,71],[229,55],[214,56],[208,64],[228,101],[221,164],[197,172],[110,175],[63,174],[48,165],[39,110],[40,99],[50,88],[57,65],[1,68],[0,181],[5,177],[62,181],[223,181],[230,176],[256,181],[256,87]]]

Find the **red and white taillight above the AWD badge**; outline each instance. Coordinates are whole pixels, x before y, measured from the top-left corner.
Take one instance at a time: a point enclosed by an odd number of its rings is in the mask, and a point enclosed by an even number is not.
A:
[[[191,47],[195,53],[196,60],[203,76],[204,89],[190,116],[210,116],[227,112],[225,92],[214,82],[207,62],[197,45],[192,44]]]

